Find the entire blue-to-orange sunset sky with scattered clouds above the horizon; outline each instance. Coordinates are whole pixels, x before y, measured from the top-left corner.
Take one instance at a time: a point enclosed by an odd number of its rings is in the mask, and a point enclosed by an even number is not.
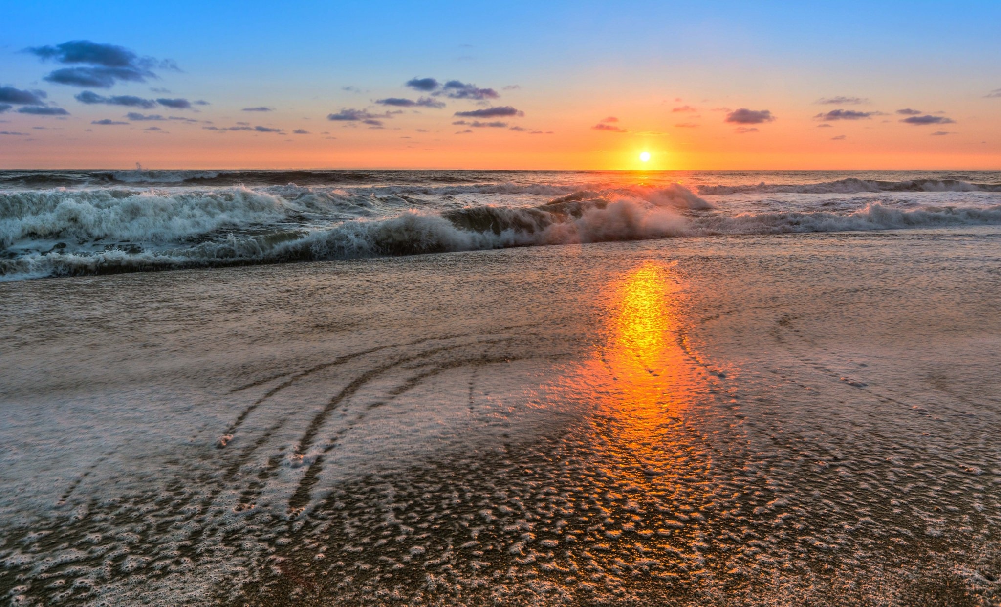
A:
[[[996,0],[4,13],[3,168],[1001,168]]]

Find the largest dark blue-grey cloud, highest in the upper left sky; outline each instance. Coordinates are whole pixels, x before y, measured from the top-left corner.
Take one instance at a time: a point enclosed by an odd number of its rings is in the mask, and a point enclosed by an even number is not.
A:
[[[25,49],[43,61],[53,60],[64,64],[82,64],[57,69],[45,80],[70,86],[110,88],[118,81],[145,82],[156,78],[153,69],[177,70],[173,61],[140,57],[133,51],[114,44],[100,44],[90,40],[71,40],[55,46],[37,46]]]

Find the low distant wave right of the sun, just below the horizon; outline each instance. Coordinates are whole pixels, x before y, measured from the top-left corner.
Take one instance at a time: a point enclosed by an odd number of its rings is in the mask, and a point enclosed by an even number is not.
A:
[[[1001,191],[1001,183],[970,183],[961,179],[907,179],[904,181],[877,181],[849,177],[820,183],[757,185],[700,185],[699,193],[727,195],[738,193],[853,193],[894,191]]]

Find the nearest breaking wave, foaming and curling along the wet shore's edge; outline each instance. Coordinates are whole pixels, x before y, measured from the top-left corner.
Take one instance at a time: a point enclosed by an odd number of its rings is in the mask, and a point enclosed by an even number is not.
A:
[[[901,209],[871,203],[848,213],[687,213],[678,200],[565,196],[532,207],[466,206],[441,213],[408,209],[325,229],[227,234],[162,250],[114,247],[96,253],[31,252],[0,259],[4,279],[348,259],[465,250],[637,240],[671,236],[831,232],[1001,224],[1001,205]],[[580,199],[578,199],[580,198]]]

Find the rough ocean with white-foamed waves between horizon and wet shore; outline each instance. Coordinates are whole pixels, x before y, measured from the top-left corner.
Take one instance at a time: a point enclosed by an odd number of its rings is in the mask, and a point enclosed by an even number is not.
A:
[[[998,171],[0,171],[0,279],[1001,222]]]

